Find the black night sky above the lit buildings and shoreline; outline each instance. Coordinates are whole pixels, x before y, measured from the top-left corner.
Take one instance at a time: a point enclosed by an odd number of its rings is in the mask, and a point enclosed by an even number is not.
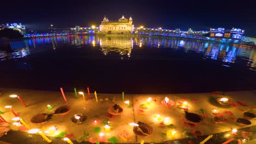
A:
[[[46,29],[50,23],[55,27],[99,25],[104,15],[109,20],[131,15],[135,26],[182,30],[235,27],[256,37],[256,2],[247,0],[14,0],[1,2],[0,14],[0,23],[21,22],[27,29]]]

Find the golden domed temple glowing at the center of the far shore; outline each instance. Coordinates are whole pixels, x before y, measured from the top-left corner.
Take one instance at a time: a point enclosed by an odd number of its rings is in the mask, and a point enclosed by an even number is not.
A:
[[[104,17],[100,25],[100,32],[107,34],[129,34],[133,31],[132,18],[121,17],[118,21],[109,21]]]

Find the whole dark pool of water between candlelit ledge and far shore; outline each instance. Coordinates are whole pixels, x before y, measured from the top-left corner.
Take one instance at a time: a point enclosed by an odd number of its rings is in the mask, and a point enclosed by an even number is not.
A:
[[[256,50],[203,40],[67,37],[25,40],[0,51],[0,87],[98,93],[256,89]]]

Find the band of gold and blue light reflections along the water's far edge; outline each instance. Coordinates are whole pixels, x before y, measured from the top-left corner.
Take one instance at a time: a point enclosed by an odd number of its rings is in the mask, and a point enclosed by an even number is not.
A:
[[[148,49],[170,49],[172,52],[198,53],[202,61],[219,61],[224,67],[233,67],[237,59],[244,62],[244,66],[256,71],[256,50],[219,44],[211,41],[181,38],[152,38],[152,37],[97,37],[95,35],[68,35],[61,37],[33,38],[24,40],[26,47],[19,50],[1,50],[1,61],[13,58],[35,55],[44,51],[61,49],[62,44],[69,44],[70,48],[99,49],[103,56],[127,56],[134,58],[133,51],[139,49],[136,58],[147,55]],[[186,54],[183,55],[186,55]],[[194,54],[192,54],[194,55]],[[157,55],[159,58],[162,55]],[[150,56],[147,56],[150,58]],[[154,56],[155,57],[155,56]],[[185,57],[185,56],[184,56]],[[166,58],[166,57],[165,57]],[[192,57],[193,58],[193,57]]]

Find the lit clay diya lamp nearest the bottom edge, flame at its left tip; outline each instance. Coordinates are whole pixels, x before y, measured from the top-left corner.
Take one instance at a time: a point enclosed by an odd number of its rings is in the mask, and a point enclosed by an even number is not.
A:
[[[138,136],[149,136],[152,134],[153,128],[150,125],[142,122],[138,122],[138,126],[133,127],[133,133]]]

